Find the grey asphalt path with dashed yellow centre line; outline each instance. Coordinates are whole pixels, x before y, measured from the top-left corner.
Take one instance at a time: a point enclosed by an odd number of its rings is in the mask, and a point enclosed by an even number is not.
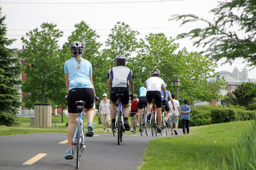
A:
[[[177,130],[183,134],[182,129]],[[168,136],[171,135],[169,130]],[[175,136],[175,134],[174,134]],[[142,164],[147,143],[151,139],[166,137],[161,135],[152,137],[125,134],[120,145],[117,136],[112,133],[95,134],[86,137],[86,150],[82,153],[80,167],[83,170],[136,170]],[[67,139],[66,133],[35,133],[13,136],[0,136],[0,170],[72,170],[76,169],[75,159],[64,158],[68,144],[59,144]],[[45,153],[31,165],[24,165],[39,153]]]

